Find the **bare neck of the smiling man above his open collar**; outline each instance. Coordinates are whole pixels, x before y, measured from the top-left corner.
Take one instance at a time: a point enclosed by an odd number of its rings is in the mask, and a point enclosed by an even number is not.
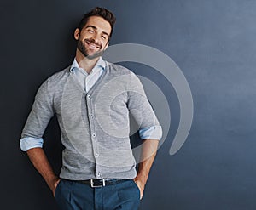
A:
[[[79,67],[83,68],[88,74],[96,65],[96,62],[100,59],[100,57],[96,57],[95,59],[88,59],[82,54],[79,49],[76,52],[76,60],[78,61]]]

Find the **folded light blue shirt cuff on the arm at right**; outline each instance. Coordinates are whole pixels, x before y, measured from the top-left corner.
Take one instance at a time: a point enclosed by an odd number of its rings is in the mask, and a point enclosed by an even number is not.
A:
[[[141,139],[158,139],[162,137],[162,127],[161,126],[152,126],[149,128],[142,128],[139,130]]]

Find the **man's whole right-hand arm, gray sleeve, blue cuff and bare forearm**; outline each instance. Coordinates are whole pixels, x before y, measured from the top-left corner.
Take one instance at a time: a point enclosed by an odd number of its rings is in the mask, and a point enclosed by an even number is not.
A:
[[[127,107],[137,122],[137,125],[139,125],[139,135],[140,138],[143,139],[142,154],[137,177],[134,179],[140,190],[142,199],[143,190],[148,180],[148,174],[154,162],[154,157],[162,136],[162,128],[154,114],[153,108],[148,102],[143,89],[143,84],[135,74],[131,73],[127,89]]]

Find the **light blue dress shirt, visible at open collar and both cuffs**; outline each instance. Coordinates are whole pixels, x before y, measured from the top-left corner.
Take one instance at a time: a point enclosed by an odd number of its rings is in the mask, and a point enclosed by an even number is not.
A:
[[[95,67],[87,73],[83,68],[79,67],[76,59],[73,60],[73,64],[70,67],[70,71],[76,76],[79,85],[88,92],[90,88],[96,83],[96,81],[101,77],[102,72],[106,69],[106,61],[102,60],[102,57],[97,61]],[[154,131],[154,132],[153,132]],[[154,135],[153,135],[154,133]],[[162,130],[160,126],[153,126],[150,128],[143,128],[139,130],[139,135],[141,139],[160,139],[162,135]],[[44,145],[44,139],[26,137],[20,139],[20,149],[23,151],[30,150],[32,148],[42,148]]]

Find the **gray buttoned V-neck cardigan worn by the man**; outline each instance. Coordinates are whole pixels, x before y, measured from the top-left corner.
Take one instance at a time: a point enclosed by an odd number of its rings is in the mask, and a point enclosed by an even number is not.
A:
[[[69,70],[55,73],[38,89],[21,138],[42,138],[56,114],[65,146],[61,178],[135,178],[129,113],[138,128],[161,129],[142,83],[125,67],[108,63],[86,93]]]

